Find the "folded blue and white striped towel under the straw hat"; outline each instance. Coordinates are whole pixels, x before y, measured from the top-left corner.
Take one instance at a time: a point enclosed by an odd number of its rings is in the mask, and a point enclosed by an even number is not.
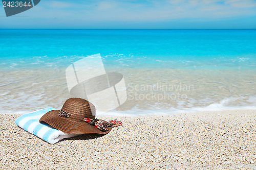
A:
[[[27,113],[18,117],[15,120],[15,123],[18,127],[28,131],[29,133],[36,135],[37,137],[51,144],[54,144],[63,138],[70,138],[79,135],[64,133],[47,124],[40,124],[39,119],[42,117],[42,115],[51,110],[57,109],[50,107],[32,113]]]

